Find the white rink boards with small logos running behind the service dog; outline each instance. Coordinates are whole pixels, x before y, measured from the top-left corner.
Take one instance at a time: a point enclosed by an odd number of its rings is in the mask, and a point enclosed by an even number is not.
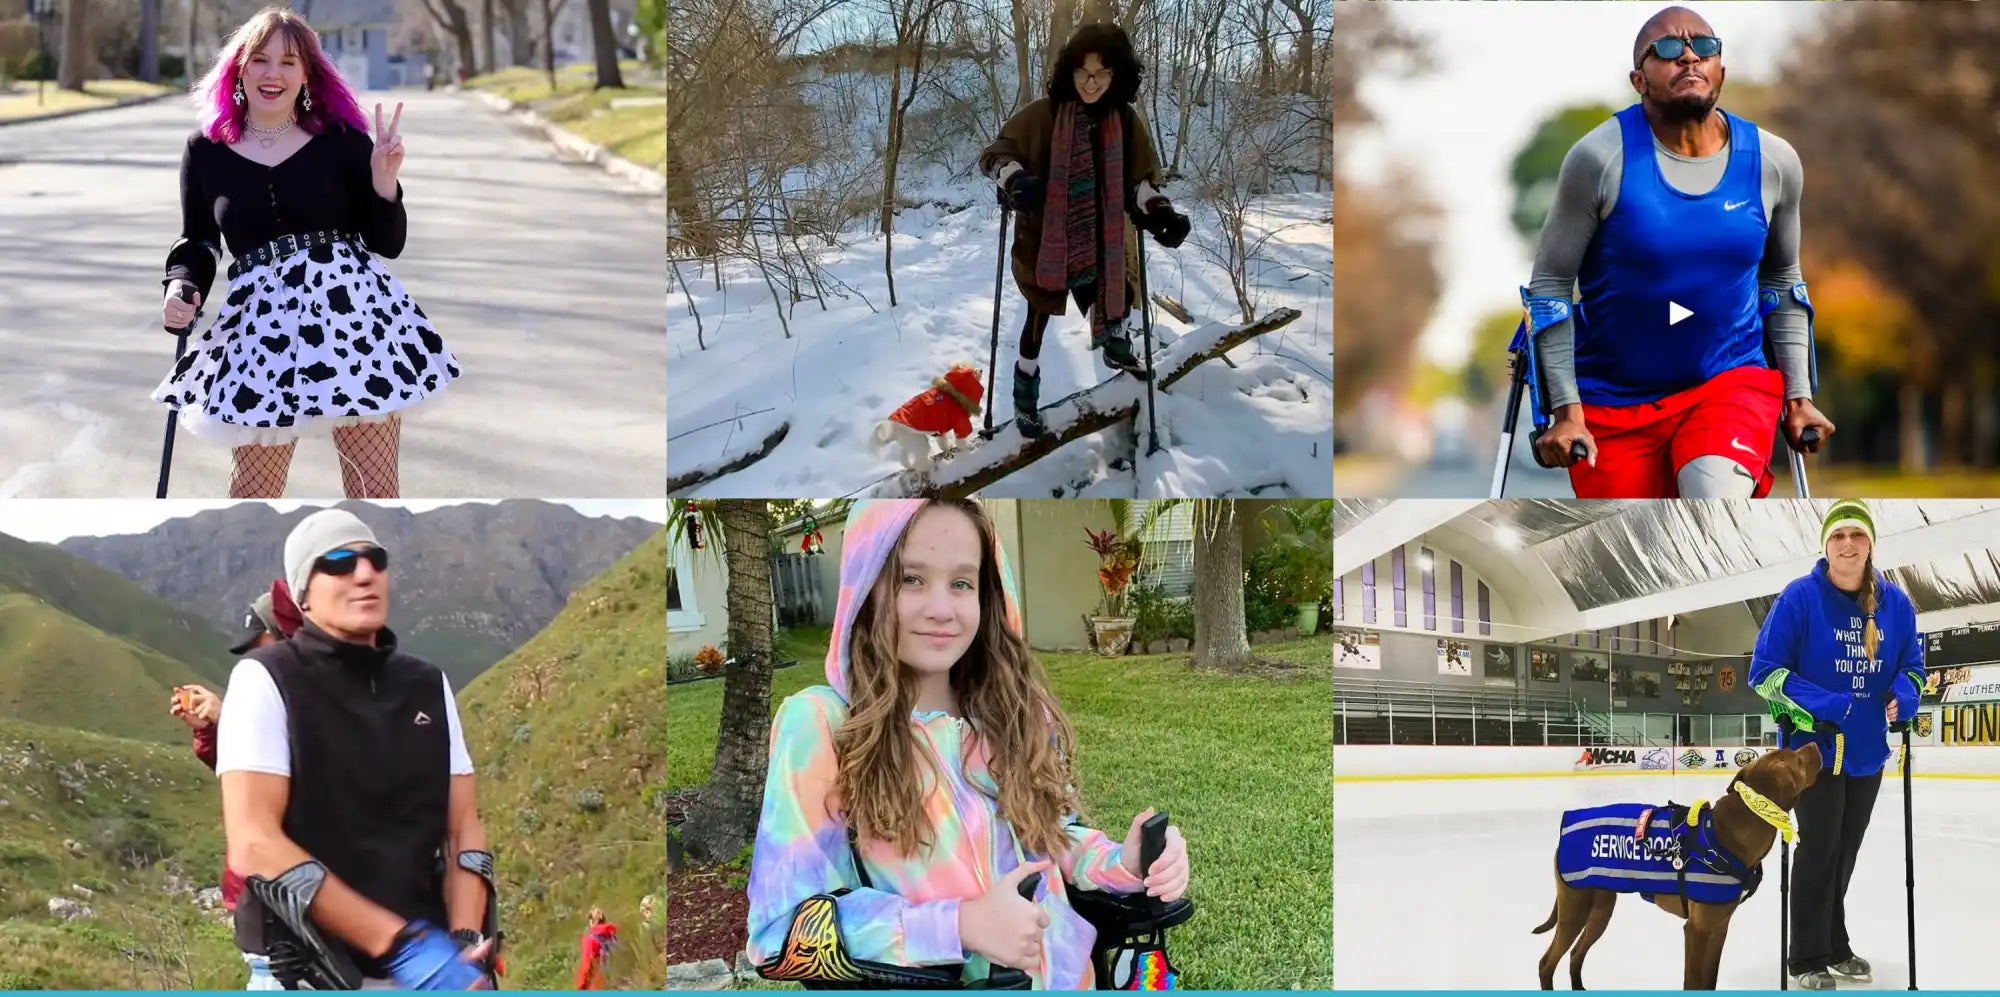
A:
[[[1890,735],[1888,775],[1900,775],[1900,737]],[[1334,783],[1434,779],[1560,779],[1734,771],[1768,749],[1728,747],[1436,747],[1340,745]],[[1916,779],[2000,779],[2000,745],[1916,745]]]

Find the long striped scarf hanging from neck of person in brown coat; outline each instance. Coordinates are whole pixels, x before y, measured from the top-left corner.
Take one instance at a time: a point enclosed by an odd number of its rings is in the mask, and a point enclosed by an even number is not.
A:
[[[1098,128],[1098,158],[1090,148],[1090,116],[1076,100],[1056,110],[1048,148],[1048,188],[1042,198],[1042,246],[1034,258],[1034,284],[1042,290],[1070,290],[1098,282],[1098,314],[1122,322],[1124,292],[1124,114],[1116,108]],[[1092,232],[1096,228],[1096,232]],[[1098,248],[1104,268],[1098,270]]]

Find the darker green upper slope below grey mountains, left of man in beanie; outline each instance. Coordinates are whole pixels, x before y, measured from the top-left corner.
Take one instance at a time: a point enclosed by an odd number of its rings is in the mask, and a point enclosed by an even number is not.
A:
[[[38,597],[108,635],[184,661],[220,689],[232,665],[230,635],[166,603],[114,571],[100,569],[50,545],[0,535],[0,591]],[[0,657],[0,661],[10,661]]]

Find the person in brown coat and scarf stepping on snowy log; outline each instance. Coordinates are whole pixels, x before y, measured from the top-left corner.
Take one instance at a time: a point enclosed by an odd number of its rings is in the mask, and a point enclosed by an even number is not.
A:
[[[1016,214],[1012,270],[1028,300],[1014,364],[1014,424],[1042,436],[1042,332],[1068,298],[1090,318],[1090,348],[1140,380],[1148,360],[1132,352],[1126,316],[1138,306],[1138,234],[1166,248],[1188,238],[1188,216],[1160,192],[1152,130],[1132,108],[1144,66],[1116,24],[1086,24],[1050,70],[1048,96],[1018,112],[980,154],[980,172],[1000,184]],[[1116,178],[1116,180],[1108,180]]]

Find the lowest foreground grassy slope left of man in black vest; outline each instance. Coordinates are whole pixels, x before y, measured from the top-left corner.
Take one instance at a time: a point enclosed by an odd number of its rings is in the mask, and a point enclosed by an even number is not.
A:
[[[0,719],[0,989],[240,989],[228,925],[190,893],[220,869],[216,783],[184,745]]]

